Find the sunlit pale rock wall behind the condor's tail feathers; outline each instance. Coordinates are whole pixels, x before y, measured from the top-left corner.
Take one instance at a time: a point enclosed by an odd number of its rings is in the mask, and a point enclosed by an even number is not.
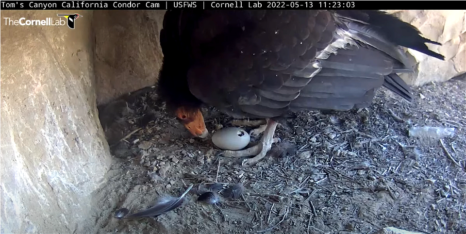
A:
[[[403,21],[414,25],[424,37],[442,43],[428,45],[445,56],[445,61],[428,57],[416,50],[409,52],[419,62],[417,71],[402,74],[411,85],[443,82],[466,71],[466,10],[388,10]]]

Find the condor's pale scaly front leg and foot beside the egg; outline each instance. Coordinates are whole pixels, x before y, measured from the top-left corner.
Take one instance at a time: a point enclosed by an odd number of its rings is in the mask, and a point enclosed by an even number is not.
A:
[[[272,144],[277,143],[280,140],[279,138],[273,138],[277,125],[278,125],[278,122],[275,122],[269,119],[266,130],[264,131],[264,135],[262,135],[262,138],[259,144],[251,148],[248,148],[246,150],[238,150],[238,151],[225,150],[223,152],[223,156],[232,157],[232,158],[255,156],[253,158],[248,158],[248,159],[243,160],[241,165],[244,167],[250,167],[256,164],[257,162],[259,162],[261,159],[263,159],[266,156],[268,150],[272,148]]]

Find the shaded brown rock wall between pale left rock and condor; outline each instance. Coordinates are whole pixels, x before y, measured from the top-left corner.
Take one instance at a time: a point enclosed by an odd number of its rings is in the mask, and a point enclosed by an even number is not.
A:
[[[97,103],[154,85],[163,55],[159,33],[165,10],[95,11]]]

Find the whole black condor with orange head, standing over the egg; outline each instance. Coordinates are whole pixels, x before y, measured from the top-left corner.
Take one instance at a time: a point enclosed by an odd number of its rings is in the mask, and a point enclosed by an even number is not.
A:
[[[443,59],[425,45],[439,43],[412,25],[368,10],[169,10],[160,40],[161,97],[201,137],[202,103],[233,117],[273,119],[364,108],[382,86],[411,100],[396,73],[412,71],[416,61],[402,47]],[[265,155],[269,143],[260,148],[254,153]]]

